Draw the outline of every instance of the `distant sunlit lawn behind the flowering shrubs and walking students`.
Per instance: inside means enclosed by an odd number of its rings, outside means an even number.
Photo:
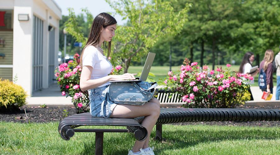
[[[217,68],[218,65],[215,65]],[[226,65],[219,65],[219,67],[222,66],[222,69],[226,68]],[[209,65],[210,69],[212,69],[212,66]],[[232,65],[230,67],[232,70],[238,71],[239,70],[239,65]],[[138,76],[140,76],[140,73],[142,72],[143,66],[130,66],[128,68],[128,73],[139,73]],[[180,70],[180,66],[172,66],[171,70],[174,71],[175,73]],[[155,74],[155,77],[148,77],[152,78],[152,81],[155,82],[163,82],[164,78],[166,78],[167,73],[169,71],[169,66],[152,66],[150,72]],[[254,78],[254,84],[252,86],[259,86],[258,85],[258,77],[259,74],[257,74]],[[163,84],[163,83],[160,83]],[[277,86],[276,84],[276,73],[273,73],[273,86]]]

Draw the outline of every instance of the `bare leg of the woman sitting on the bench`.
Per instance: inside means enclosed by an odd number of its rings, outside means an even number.
[[[147,102],[142,106],[118,104],[112,111],[110,117],[134,118],[134,117],[145,116],[142,122],[142,126],[144,126],[148,131],[147,139],[144,141],[136,140],[132,148],[133,152],[138,152],[140,151],[140,148],[149,147],[148,143],[149,143],[151,131],[156,124],[156,121],[159,117],[159,113],[160,113],[159,102],[156,99],[152,99],[151,101]]]

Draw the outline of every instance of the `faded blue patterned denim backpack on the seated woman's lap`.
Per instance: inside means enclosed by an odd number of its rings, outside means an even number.
[[[156,82],[112,82],[109,99],[117,104],[143,105],[153,98]]]

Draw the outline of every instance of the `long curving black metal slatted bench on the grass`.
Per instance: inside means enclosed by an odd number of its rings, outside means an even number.
[[[69,140],[75,132],[95,132],[95,154],[103,153],[104,132],[128,132],[137,140],[147,138],[147,130],[141,125],[144,117],[97,118],[90,113],[75,114],[64,118],[58,125],[60,136]],[[161,108],[156,122],[156,139],[162,139],[162,124],[179,122],[211,121],[279,121],[279,109],[237,109],[237,108]],[[79,126],[126,126],[127,129],[76,129]]]

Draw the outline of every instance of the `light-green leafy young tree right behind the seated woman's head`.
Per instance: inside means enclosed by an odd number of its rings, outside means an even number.
[[[161,0],[106,2],[116,13],[129,20],[127,25],[118,26],[113,51],[113,57],[120,58],[124,63],[124,73],[127,73],[132,60],[139,61],[160,38],[180,33],[190,7],[187,3],[175,12],[171,2]]]

